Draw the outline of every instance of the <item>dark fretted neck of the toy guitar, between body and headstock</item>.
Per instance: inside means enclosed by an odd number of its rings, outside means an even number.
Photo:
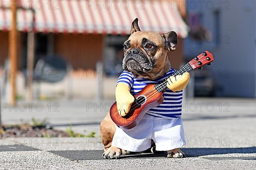
[[[160,83],[156,84],[155,85],[155,89],[158,92],[164,91],[167,88],[167,79],[169,79],[171,76],[182,75],[183,73],[189,72],[189,71],[192,71],[192,70],[193,70],[193,68],[191,67],[191,65],[189,63],[187,63],[182,68],[180,68],[179,70],[175,71],[175,73],[173,73],[172,75],[170,75],[166,79],[163,79]]]

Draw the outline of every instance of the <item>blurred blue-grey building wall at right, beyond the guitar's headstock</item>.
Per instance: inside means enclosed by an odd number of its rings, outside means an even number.
[[[211,51],[215,95],[256,97],[256,1],[187,0],[187,58]]]

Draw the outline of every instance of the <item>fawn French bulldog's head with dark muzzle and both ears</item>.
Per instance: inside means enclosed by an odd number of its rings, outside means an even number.
[[[131,36],[123,44],[124,59],[122,67],[137,78],[157,79],[170,70],[168,51],[174,51],[177,34],[142,32],[136,18],[131,26]]]

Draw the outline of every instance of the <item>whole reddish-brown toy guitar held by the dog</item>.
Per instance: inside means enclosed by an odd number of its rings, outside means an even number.
[[[205,51],[171,76],[181,75],[197,68],[201,69],[206,64],[210,65],[213,60],[212,54],[209,51]],[[130,111],[123,117],[119,115],[115,102],[110,108],[110,116],[113,122],[125,129],[131,129],[136,126],[149,109],[163,102],[163,91],[167,88],[168,78],[158,84],[146,85],[139,93],[135,94],[135,100],[131,105]]]

